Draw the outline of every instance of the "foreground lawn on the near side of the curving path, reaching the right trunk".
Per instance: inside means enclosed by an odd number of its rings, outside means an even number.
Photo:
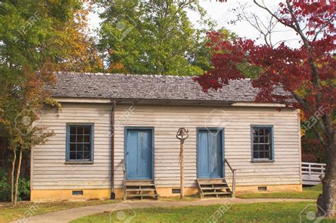
[[[302,222],[313,222],[307,219],[307,213],[313,217],[315,209],[313,202],[142,208],[113,212],[111,215],[104,212],[76,219],[72,223],[130,222],[130,220],[132,222],[300,222],[300,216]],[[322,219],[321,222],[335,221],[336,218]]]

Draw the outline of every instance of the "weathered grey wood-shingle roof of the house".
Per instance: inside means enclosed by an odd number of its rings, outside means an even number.
[[[205,93],[192,76],[55,72],[55,78],[56,84],[47,86],[54,97],[253,102],[259,92],[250,79]],[[287,93],[276,88],[276,94]]]

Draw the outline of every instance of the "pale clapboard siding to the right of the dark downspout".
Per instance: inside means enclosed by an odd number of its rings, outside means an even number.
[[[185,186],[196,186],[196,127],[216,127],[211,118],[225,121],[225,158],[237,169],[237,185],[299,184],[300,149],[296,110],[284,108],[228,108],[177,105],[118,105],[115,118],[115,187],[122,188],[124,127],[155,127],[155,182],[157,187],[179,187],[179,127],[189,129],[185,141]],[[210,123],[209,123],[210,122]],[[251,163],[250,125],[274,125],[274,163]],[[232,173],[225,168],[225,176]],[[229,180],[230,181],[230,180]]]

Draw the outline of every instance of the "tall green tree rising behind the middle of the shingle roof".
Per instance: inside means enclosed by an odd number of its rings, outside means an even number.
[[[205,27],[213,25],[197,1],[113,0],[100,6],[99,46],[109,72],[192,75],[210,66],[204,30],[194,28],[186,13],[196,11]]]

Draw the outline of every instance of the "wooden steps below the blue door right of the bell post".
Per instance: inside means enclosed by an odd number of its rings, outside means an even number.
[[[208,196],[218,198],[221,196],[233,195],[225,178],[197,179],[197,187],[200,198]]]

